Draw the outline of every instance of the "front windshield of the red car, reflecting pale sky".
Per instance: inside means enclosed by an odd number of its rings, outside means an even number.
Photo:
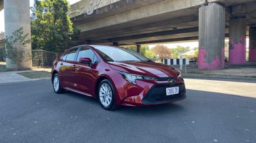
[[[124,47],[94,46],[107,62],[150,61],[148,58]]]

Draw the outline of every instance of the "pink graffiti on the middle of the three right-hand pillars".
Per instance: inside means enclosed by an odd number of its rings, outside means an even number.
[[[230,40],[233,49],[230,49],[228,62],[231,64],[239,64],[246,62],[246,37],[242,36],[239,43],[235,43],[233,39]]]

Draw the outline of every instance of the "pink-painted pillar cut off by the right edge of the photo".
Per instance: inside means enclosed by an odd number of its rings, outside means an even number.
[[[249,29],[249,61],[256,61],[256,28]]]

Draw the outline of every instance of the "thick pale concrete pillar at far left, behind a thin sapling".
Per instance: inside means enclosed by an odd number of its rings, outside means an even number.
[[[30,28],[30,1],[23,0],[4,0],[4,10],[5,10],[5,37],[12,35],[12,33],[23,27],[23,34],[28,33],[27,38],[31,38],[31,28]],[[23,36],[24,36],[23,35]],[[31,44],[26,44],[25,47],[19,46],[19,44],[14,44],[14,47],[18,49],[19,56],[30,56],[30,58],[25,58],[21,62],[21,68],[31,68],[32,67],[32,49]],[[15,63],[12,58],[6,58],[6,68],[16,69],[17,63]]]

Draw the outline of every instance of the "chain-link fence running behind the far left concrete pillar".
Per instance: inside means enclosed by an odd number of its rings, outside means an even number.
[[[34,49],[32,50],[32,65],[33,67],[52,67],[52,62],[58,55],[59,53]],[[0,62],[5,62],[5,48],[3,47],[0,47]]]

